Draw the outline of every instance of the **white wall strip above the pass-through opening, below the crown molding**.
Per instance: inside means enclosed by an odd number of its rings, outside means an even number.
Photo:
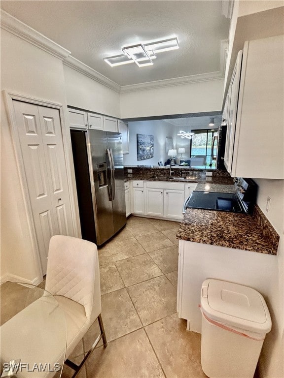
[[[220,111],[223,85],[220,79],[122,93],[121,118]]]

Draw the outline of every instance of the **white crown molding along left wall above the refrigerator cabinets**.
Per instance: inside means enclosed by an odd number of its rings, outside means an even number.
[[[82,73],[85,76],[88,76],[90,79],[93,79],[97,81],[98,83],[105,85],[106,87],[114,90],[117,93],[120,92],[120,88],[121,88],[120,85],[108,79],[106,76],[102,75],[100,72],[96,71],[95,69],[89,67],[85,63],[78,61],[78,59],[72,57],[71,55],[63,61],[63,64]]]

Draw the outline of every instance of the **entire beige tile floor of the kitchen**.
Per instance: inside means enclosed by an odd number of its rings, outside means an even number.
[[[176,309],[178,222],[131,216],[99,249],[102,317],[108,345],[100,343],[79,378],[206,377],[201,337],[186,331]],[[97,322],[72,353],[78,362],[99,333]],[[65,367],[63,378],[71,377]]]

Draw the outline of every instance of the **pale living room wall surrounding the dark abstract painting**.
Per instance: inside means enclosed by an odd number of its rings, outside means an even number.
[[[158,165],[168,160],[166,137],[173,138],[176,145],[176,127],[162,120],[129,122],[129,154],[123,155],[124,165]],[[154,157],[137,160],[137,134],[154,135]]]

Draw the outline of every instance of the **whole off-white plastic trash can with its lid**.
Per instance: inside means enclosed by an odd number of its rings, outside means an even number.
[[[201,289],[201,366],[210,378],[253,378],[271,318],[247,286],[206,280]]]

